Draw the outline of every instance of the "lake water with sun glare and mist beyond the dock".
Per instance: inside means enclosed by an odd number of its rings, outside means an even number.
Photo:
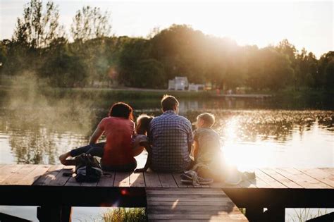
[[[60,164],[60,154],[87,144],[114,101],[131,104],[135,116],[160,114],[159,99],[0,93],[0,164]],[[180,115],[192,122],[199,113],[214,113],[225,159],[241,170],[334,167],[334,109],[327,100],[179,100]]]

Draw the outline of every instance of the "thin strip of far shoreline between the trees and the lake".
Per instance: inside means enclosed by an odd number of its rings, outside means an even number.
[[[135,88],[135,87],[115,87],[115,88],[107,88],[107,87],[68,87],[68,88],[60,88],[60,87],[37,87],[33,88],[30,85],[23,86],[6,86],[0,85],[1,91],[9,91],[12,89],[22,90],[37,90],[39,92],[43,92],[46,94],[50,93],[61,93],[61,94],[71,94],[71,93],[92,93],[97,92],[99,94],[110,94],[116,96],[124,96],[124,97],[147,97],[147,98],[160,98],[163,94],[171,94],[175,97],[180,98],[192,98],[192,99],[223,99],[223,98],[240,98],[240,99],[270,99],[273,97],[276,98],[288,98],[288,99],[299,99],[299,98],[314,98],[314,97],[334,97],[334,89],[333,90],[315,90],[315,89],[302,89],[302,90],[293,90],[293,89],[285,89],[278,90],[276,92],[269,90],[262,91],[252,91],[245,92],[240,94],[217,94],[216,91],[182,91],[182,90],[159,90],[159,89],[144,89],[144,88]]]

